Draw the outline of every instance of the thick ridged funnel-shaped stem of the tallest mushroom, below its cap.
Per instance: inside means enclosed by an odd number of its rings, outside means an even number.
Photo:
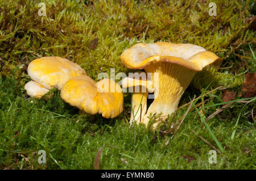
[[[155,99],[148,108],[143,123],[148,124],[150,120],[148,117],[151,114],[162,113],[156,123],[153,124],[153,129],[155,129],[160,121],[167,119],[168,115],[176,111],[180,98],[192,81],[196,71],[168,62],[151,62],[144,69],[147,73],[152,73]]]

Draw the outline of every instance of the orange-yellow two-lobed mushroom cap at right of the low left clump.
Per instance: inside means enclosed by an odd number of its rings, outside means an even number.
[[[111,79],[97,83],[87,75],[74,77],[60,91],[61,98],[71,106],[89,113],[100,113],[105,118],[114,118],[123,111],[121,87]]]

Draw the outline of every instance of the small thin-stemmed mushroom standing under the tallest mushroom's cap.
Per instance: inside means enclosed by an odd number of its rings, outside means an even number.
[[[143,72],[137,74],[143,74]],[[130,123],[142,123],[143,117],[147,112],[148,92],[154,92],[152,82],[150,79],[147,79],[146,74],[144,75],[145,76],[126,77],[122,80],[122,87],[129,88],[129,92],[133,92],[131,98]]]

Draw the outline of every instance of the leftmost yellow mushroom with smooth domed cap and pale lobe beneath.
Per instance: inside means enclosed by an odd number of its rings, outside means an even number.
[[[66,58],[42,57],[30,62],[27,73],[33,80],[24,89],[27,94],[41,98],[50,89],[61,90],[64,83],[73,77],[86,75],[85,70]]]

